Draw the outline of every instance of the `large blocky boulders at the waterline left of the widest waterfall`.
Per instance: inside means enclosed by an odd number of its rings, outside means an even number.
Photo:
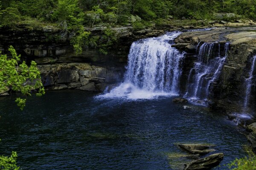
[[[103,67],[88,63],[38,65],[44,86],[52,90],[78,88],[84,91],[104,91],[105,87],[123,77],[123,67]]]

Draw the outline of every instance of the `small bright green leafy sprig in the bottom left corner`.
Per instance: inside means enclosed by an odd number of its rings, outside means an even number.
[[[1,170],[19,170],[20,167],[16,165],[17,153],[12,152],[10,157],[0,156],[0,169]]]

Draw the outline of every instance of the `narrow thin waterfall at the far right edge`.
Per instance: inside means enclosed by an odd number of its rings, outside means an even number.
[[[244,99],[244,112],[246,112],[248,104],[249,104],[249,99],[250,99],[250,93],[251,93],[251,88],[252,88],[252,79],[253,79],[253,72],[255,70],[255,61],[256,61],[256,56],[253,57],[253,62],[250,68],[250,73],[249,73],[249,78],[245,79],[246,83],[246,91],[245,91],[245,99]]]

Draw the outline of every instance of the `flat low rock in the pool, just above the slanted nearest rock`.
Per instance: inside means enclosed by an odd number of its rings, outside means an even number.
[[[214,149],[209,149],[209,145],[205,144],[178,144],[178,146],[193,154],[204,155],[215,151]]]

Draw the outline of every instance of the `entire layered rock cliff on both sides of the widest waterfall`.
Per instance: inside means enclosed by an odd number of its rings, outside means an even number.
[[[189,27],[190,28],[190,27]],[[105,26],[85,28],[92,36],[101,35]],[[41,30],[9,31],[1,30],[0,50],[7,52],[13,45],[27,62],[35,60],[41,69],[42,80],[46,88],[60,90],[79,88],[87,91],[102,91],[106,86],[122,80],[131,43],[146,37],[156,37],[165,31],[177,28],[147,28],[134,31],[131,26],[111,28],[118,36],[118,43],[108,55],[98,49],[84,49],[81,55],[74,53],[70,39],[74,32],[60,38],[61,30],[45,27]],[[179,28],[182,29],[182,28]],[[248,78],[251,58],[256,54],[255,27],[214,28],[209,31],[183,32],[173,45],[180,51],[186,51],[183,60],[183,74],[180,89],[185,94],[189,71],[197,60],[200,43],[218,42],[224,53],[224,45],[230,43],[227,59],[218,80],[211,83],[209,105],[224,111],[239,112],[243,107],[245,86]],[[255,82],[255,78],[253,78]],[[252,85],[250,109],[256,108],[255,84]]]

